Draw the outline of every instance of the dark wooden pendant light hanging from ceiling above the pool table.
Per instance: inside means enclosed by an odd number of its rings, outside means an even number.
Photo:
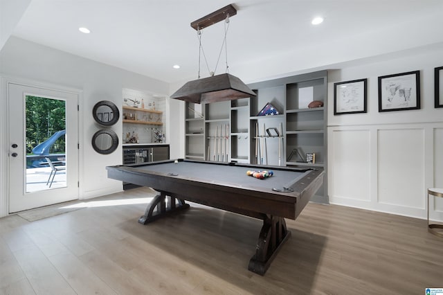
[[[255,97],[254,91],[242,82],[239,78],[228,73],[228,48],[226,47],[226,35],[229,27],[229,17],[237,14],[237,10],[232,4],[225,6],[215,12],[197,19],[191,23],[192,28],[197,30],[197,37],[199,38],[199,79],[187,82],[179,90],[177,90],[171,98],[185,100],[188,102],[202,103],[202,102],[219,102],[224,100],[235,100],[238,98]],[[218,61],[222,50],[220,51],[217,64],[214,71],[210,71],[210,77],[200,79],[200,56],[201,46],[201,30],[219,21],[225,20],[224,40],[221,44],[221,49],[225,47],[226,51],[226,73],[214,75],[217,70]],[[205,58],[206,60],[206,58]],[[208,66],[206,62],[206,66]],[[209,66],[208,66],[209,69]]]

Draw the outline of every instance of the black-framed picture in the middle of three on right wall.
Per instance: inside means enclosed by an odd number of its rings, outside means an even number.
[[[420,109],[420,71],[379,77],[379,111]]]

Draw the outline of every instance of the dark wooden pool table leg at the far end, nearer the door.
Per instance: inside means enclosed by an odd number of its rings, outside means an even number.
[[[166,202],[166,198],[168,198],[170,202]],[[145,215],[138,219],[138,223],[147,224],[154,220],[158,220],[165,215],[170,215],[171,213],[188,208],[189,204],[186,204],[184,199],[180,199],[171,193],[161,192],[156,195],[149,204],[147,204]]]

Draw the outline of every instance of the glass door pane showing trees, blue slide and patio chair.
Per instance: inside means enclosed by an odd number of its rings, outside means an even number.
[[[66,186],[65,130],[64,100],[26,96],[27,193]]]

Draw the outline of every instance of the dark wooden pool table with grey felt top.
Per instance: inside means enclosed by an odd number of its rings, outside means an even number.
[[[272,170],[257,179],[248,170]],[[248,269],[264,275],[291,236],[284,218],[295,220],[323,184],[323,170],[211,161],[158,161],[108,166],[108,177],[159,192],[138,222],[147,224],[189,208],[187,201],[263,220]]]

